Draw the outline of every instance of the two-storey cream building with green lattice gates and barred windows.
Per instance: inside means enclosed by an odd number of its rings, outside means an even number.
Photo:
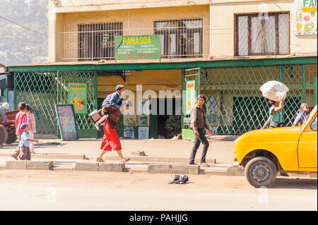
[[[119,122],[122,137],[167,138],[165,121],[182,114],[182,136],[192,138],[182,92],[188,84],[206,95],[213,133],[241,134],[266,121],[269,105],[259,92],[266,81],[290,88],[289,124],[301,102],[317,104],[316,17],[312,0],[49,1],[49,62],[8,71],[16,103],[33,102],[44,134],[57,133],[54,104],[69,103],[69,83],[87,84],[88,112],[77,115],[81,137],[98,135],[88,114],[118,84],[134,102],[134,114]],[[116,37],[139,35],[160,37],[160,57],[116,58]],[[145,105],[155,113],[140,110]]]

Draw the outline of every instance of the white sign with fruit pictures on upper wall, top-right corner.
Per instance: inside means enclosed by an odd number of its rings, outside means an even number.
[[[317,35],[317,0],[295,0],[296,35]]]

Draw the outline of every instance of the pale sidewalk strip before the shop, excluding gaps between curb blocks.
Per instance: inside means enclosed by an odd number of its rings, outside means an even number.
[[[237,136],[221,136],[215,135],[208,138],[210,147],[206,154],[206,159],[216,159],[217,163],[231,164],[234,157],[234,140]],[[100,152],[101,139],[87,138],[78,141],[63,141],[56,140],[41,140],[45,144],[35,144],[36,154],[60,154],[64,155],[85,155],[90,159],[96,159]],[[190,140],[128,140],[122,139],[122,153],[124,157],[136,156],[133,152],[143,151],[147,157],[165,157],[165,158],[182,158],[189,159],[192,151],[193,142]],[[11,154],[18,144],[3,145],[0,147],[1,154]],[[196,159],[201,157],[202,146],[199,147],[196,153]],[[35,155],[34,154],[34,157]],[[107,157],[116,157],[117,153],[107,152]]]

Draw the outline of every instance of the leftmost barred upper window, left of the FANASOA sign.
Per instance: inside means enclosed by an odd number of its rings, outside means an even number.
[[[78,25],[78,61],[114,59],[114,36],[123,35],[122,23]]]

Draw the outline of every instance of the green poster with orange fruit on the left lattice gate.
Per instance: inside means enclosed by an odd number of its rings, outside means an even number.
[[[69,83],[69,104],[76,114],[87,114],[87,84]]]

